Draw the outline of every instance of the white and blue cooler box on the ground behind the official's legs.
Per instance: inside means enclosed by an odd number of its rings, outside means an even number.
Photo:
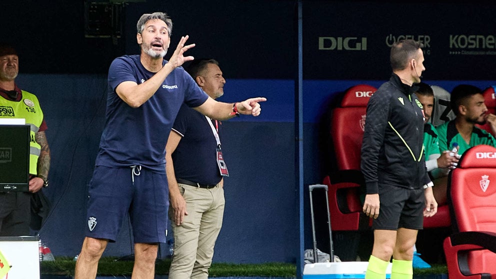
[[[387,265],[386,278],[391,277],[391,264]],[[361,279],[365,278],[368,261],[317,262],[305,264],[303,279]]]

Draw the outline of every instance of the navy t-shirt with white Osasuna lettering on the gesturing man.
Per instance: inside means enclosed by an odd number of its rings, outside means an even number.
[[[106,121],[95,165],[141,165],[165,173],[165,144],[179,107],[183,102],[199,106],[208,95],[182,67],[172,70],[158,90],[137,108],[115,92],[123,81],[140,84],[154,74],[143,67],[139,55],[117,57],[110,64]]]

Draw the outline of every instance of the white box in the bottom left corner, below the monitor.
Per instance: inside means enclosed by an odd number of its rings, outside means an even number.
[[[38,240],[37,236],[0,237],[0,252],[11,265],[3,278],[39,279]]]

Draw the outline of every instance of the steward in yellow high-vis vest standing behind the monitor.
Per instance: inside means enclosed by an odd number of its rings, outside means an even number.
[[[19,71],[19,57],[15,49],[0,43],[0,118],[23,118],[30,126],[29,191],[8,191],[0,188],[0,236],[29,235],[31,198],[39,200],[39,191],[48,185],[50,148],[44,130],[46,123],[38,98],[19,89],[15,77]],[[1,177],[0,177],[1,180]],[[1,182],[1,181],[0,181]],[[34,204],[34,202],[33,202]],[[34,211],[40,208],[34,208]],[[48,208],[43,208],[48,213]],[[34,212],[35,214],[40,214]],[[41,221],[34,230],[39,230]]]

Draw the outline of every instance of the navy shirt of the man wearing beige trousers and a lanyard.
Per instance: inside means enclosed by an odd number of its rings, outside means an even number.
[[[181,105],[172,126],[182,137],[172,153],[176,178],[200,184],[216,184],[222,178],[217,165],[217,141],[207,121],[211,120],[187,105]],[[217,123],[220,133],[222,125],[220,121]],[[214,122],[212,124],[215,126]]]

